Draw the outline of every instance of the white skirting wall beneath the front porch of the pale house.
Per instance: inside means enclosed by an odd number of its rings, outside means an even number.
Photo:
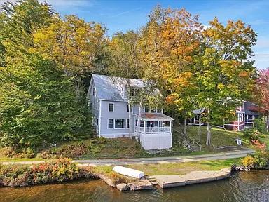
[[[172,147],[172,134],[141,134],[140,142],[145,150],[149,149],[170,149]]]

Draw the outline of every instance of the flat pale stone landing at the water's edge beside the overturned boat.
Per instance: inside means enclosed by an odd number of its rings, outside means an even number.
[[[120,191],[153,189],[153,185],[158,184],[162,188],[180,187],[188,184],[199,184],[222,180],[230,177],[231,168],[223,168],[216,171],[192,171],[186,175],[154,175],[145,180],[139,180],[132,184],[118,184]],[[131,186],[130,186],[131,185]],[[135,185],[135,186],[134,186]]]

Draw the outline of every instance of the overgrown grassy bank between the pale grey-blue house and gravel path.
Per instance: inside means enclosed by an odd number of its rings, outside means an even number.
[[[124,138],[95,138],[79,142],[61,142],[57,147],[47,147],[34,152],[31,149],[15,152],[10,148],[0,149],[0,162],[3,161],[42,161],[58,159],[60,156],[72,159],[121,159],[121,158],[148,158],[153,156],[181,156],[190,154],[186,149],[176,145],[170,150],[156,153],[144,151],[139,142]],[[31,158],[30,158],[31,157]]]

